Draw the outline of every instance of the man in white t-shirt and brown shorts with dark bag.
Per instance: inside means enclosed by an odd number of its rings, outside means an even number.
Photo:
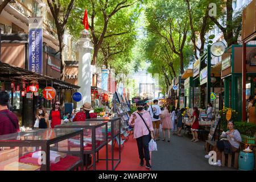
[[[158,105],[158,100],[154,100],[153,103],[154,105],[151,105],[150,107],[148,107],[147,111],[149,111],[151,115],[156,140],[160,140],[159,126],[160,126],[160,117],[162,117],[162,114],[161,114],[162,112]]]

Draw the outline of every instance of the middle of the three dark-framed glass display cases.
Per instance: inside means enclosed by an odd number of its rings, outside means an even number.
[[[108,131],[108,121],[86,121],[71,122],[63,125],[57,125],[55,128],[80,128],[83,129],[84,147],[83,152],[85,155],[93,155],[93,163],[90,166],[86,166],[89,169],[93,166],[93,170],[96,170],[96,154],[102,147],[106,147],[106,170],[108,170],[108,135],[111,135]],[[72,142],[72,141],[71,141]],[[73,143],[73,146],[76,144]],[[87,164],[87,158],[84,159]]]

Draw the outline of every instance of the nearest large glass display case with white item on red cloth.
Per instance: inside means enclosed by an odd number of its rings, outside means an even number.
[[[0,171],[68,171],[84,167],[81,129],[39,129],[0,136]],[[70,141],[76,141],[71,145]]]

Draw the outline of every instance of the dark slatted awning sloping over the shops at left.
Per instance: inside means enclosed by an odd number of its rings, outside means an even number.
[[[79,89],[80,86],[69,84],[68,82],[57,80],[56,78],[41,75],[27,69],[0,62],[0,80],[2,81],[32,81],[36,80],[40,84],[46,82],[57,89]]]

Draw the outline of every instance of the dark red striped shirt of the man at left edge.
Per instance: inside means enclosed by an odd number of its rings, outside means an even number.
[[[11,120],[10,120],[11,119]],[[14,127],[15,125],[15,127]],[[19,131],[19,121],[14,113],[8,109],[0,111],[0,135],[16,133]]]

